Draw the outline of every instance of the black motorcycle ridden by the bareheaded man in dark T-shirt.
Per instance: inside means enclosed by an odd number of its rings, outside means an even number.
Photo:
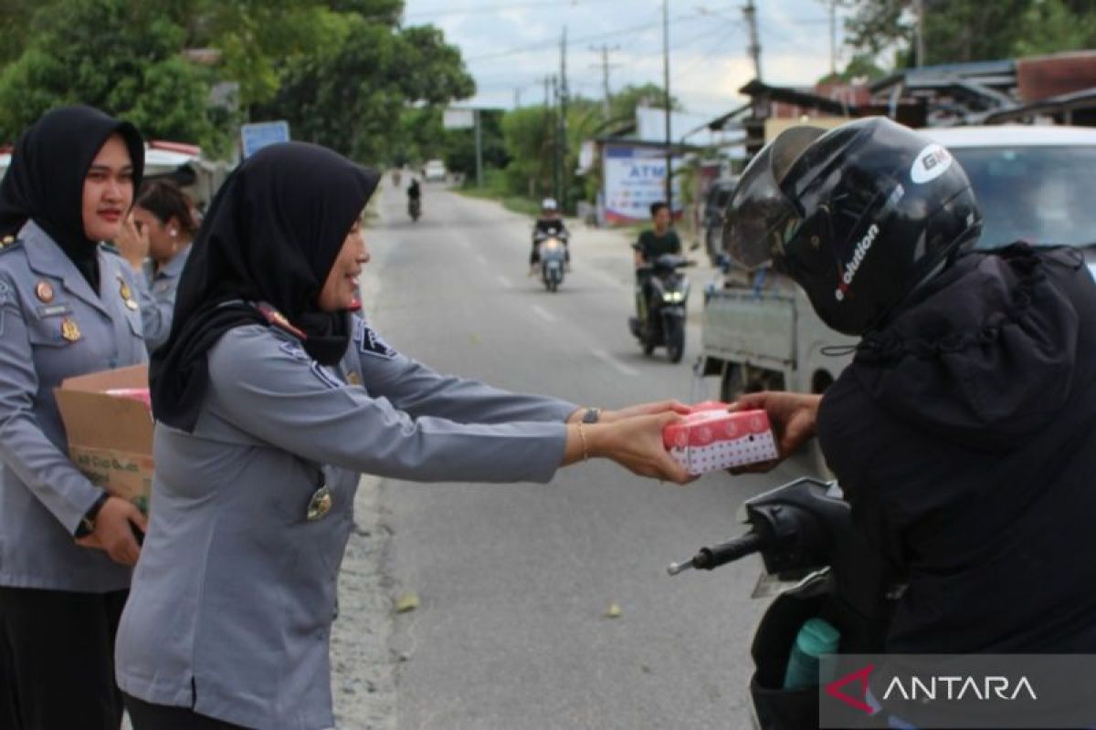
[[[643,348],[643,355],[651,355],[654,348],[663,346],[671,362],[681,362],[685,355],[689,282],[680,269],[693,265],[694,262],[676,254],[662,254],[653,263],[636,269],[637,316],[628,320],[628,326]],[[650,299],[646,293],[648,289]]]

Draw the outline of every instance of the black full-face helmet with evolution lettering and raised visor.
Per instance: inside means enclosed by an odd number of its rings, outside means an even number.
[[[830,327],[878,327],[982,228],[948,151],[884,117],[825,131],[791,127],[750,163],[727,208],[723,245],[772,265]]]

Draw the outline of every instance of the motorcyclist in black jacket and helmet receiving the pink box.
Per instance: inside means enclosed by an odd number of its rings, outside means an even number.
[[[724,242],[861,336],[823,396],[757,393],[781,455],[818,434],[907,588],[887,650],[1096,651],[1096,285],[1072,250],[973,251],[959,163],[883,118],[794,127]]]

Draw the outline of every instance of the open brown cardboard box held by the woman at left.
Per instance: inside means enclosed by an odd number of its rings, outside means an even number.
[[[92,484],[145,512],[152,486],[152,414],[135,395],[147,390],[144,364],[69,378],[54,390],[72,463]]]

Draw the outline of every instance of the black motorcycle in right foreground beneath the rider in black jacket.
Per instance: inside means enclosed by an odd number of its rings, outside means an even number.
[[[819,727],[818,686],[786,688],[792,647],[808,619],[821,617],[840,633],[838,653],[878,653],[901,592],[893,573],[853,524],[836,483],[801,478],[743,506],[750,531],[687,560],[676,576],[712,570],[761,553],[764,570],[797,581],[769,604],[751,646],[753,722],[762,730]]]

